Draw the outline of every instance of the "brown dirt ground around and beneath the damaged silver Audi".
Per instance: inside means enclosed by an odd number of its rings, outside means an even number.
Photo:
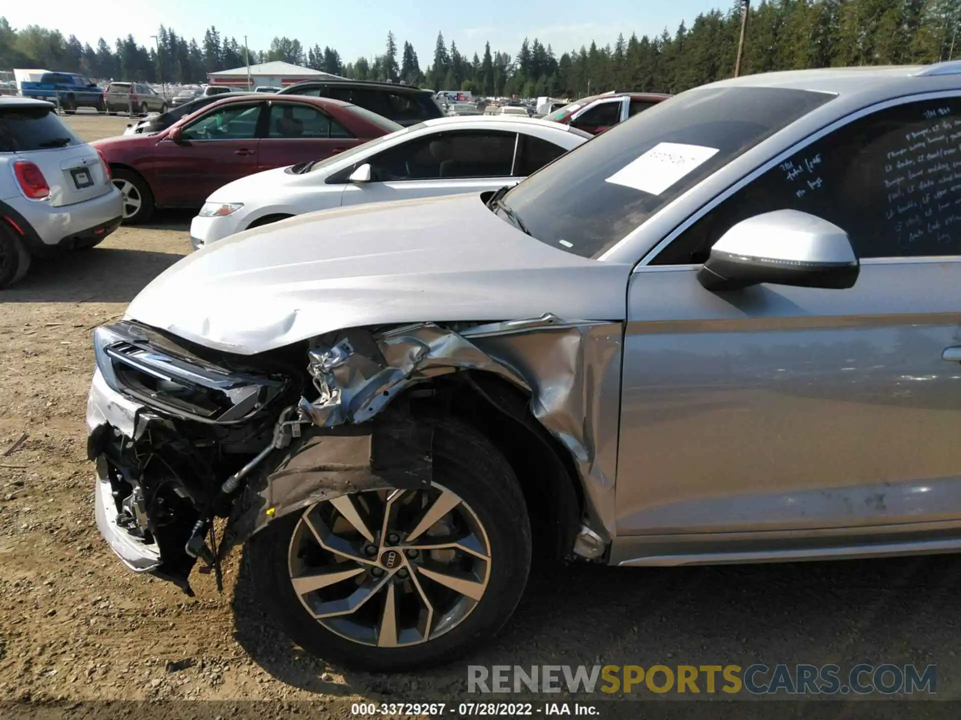
[[[85,139],[127,124],[69,122]],[[476,700],[468,664],[862,661],[937,664],[938,697],[961,699],[955,556],[573,567],[535,579],[505,631],[471,659],[393,677],[305,656],[259,611],[239,551],[223,594],[196,572],[193,599],[129,572],[93,517],[90,334],[189,252],[189,216],[121,228],[94,250],[37,263],[0,294],[0,701],[312,700],[322,716],[346,716],[338,699]]]

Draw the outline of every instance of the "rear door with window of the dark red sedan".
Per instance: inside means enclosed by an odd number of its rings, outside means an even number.
[[[330,115],[305,103],[273,101],[260,140],[258,169],[323,160],[360,143]]]

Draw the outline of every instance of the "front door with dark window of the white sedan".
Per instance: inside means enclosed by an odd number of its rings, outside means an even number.
[[[439,132],[417,137],[370,158],[372,181],[347,185],[342,203],[496,190],[520,180],[511,176],[516,145],[515,132]]]

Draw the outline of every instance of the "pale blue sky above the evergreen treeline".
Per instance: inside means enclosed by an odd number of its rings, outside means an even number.
[[[56,28],[93,46],[98,37],[112,45],[128,33],[143,44],[152,43],[150,36],[160,23],[200,42],[204,31],[215,25],[221,35],[238,42],[248,36],[253,49],[265,50],[274,36],[288,36],[305,47],[331,45],[345,62],[352,62],[361,55],[381,54],[392,30],[398,46],[411,42],[426,67],[438,31],[448,48],[454,40],[468,56],[482,54],[485,40],[492,50],[514,54],[525,36],[550,43],[559,56],[592,39],[600,46],[613,45],[618,33],[654,35],[665,26],[674,33],[682,19],[690,24],[699,12],[727,10],[733,0],[14,0],[3,5],[0,15],[14,28]]]

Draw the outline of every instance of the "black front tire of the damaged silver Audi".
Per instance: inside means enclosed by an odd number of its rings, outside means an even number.
[[[531,538],[513,470],[494,444],[464,423],[437,421],[434,442],[435,482],[463,500],[489,541],[490,575],[483,595],[458,625],[419,644],[377,647],[337,635],[315,620],[294,592],[287,553],[302,513],[291,513],[249,540],[247,552],[261,605],[309,653],[366,672],[429,667],[478,648],[517,607],[530,572]]]

